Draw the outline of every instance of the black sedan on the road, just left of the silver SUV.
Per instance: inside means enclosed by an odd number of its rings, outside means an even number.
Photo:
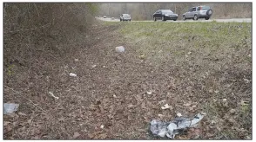
[[[172,12],[172,10],[157,10],[153,14],[154,21],[161,19],[162,21],[173,20],[176,21],[178,19],[178,14]]]

